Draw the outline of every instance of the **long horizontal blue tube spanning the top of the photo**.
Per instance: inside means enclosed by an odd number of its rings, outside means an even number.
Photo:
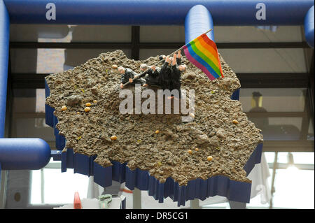
[[[177,24],[188,10],[205,6],[218,26],[302,25],[314,0],[3,0],[12,23],[34,24]],[[48,3],[55,3],[56,20],[47,20]],[[264,3],[265,20],[257,20]]]

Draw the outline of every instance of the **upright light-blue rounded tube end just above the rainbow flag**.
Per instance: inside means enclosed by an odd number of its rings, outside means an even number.
[[[201,34],[212,29],[207,35],[214,41],[214,22],[206,7],[202,5],[193,6],[185,18],[185,43],[193,41]]]

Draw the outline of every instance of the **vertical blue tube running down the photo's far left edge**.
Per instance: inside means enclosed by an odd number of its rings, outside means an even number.
[[[10,20],[6,6],[0,1],[0,138],[4,137],[6,120],[6,85],[8,82],[8,45]]]

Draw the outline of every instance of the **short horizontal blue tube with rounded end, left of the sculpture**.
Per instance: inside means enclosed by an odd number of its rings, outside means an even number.
[[[50,147],[41,138],[0,138],[3,170],[37,170],[50,160]]]

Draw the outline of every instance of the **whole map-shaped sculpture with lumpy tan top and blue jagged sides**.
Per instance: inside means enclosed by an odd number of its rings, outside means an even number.
[[[246,175],[260,162],[262,135],[242,112],[241,103],[230,99],[240,84],[220,59],[224,78],[214,81],[182,59],[188,69],[181,89],[195,90],[192,122],[182,122],[182,114],[120,113],[120,74],[112,66],[140,73],[140,64],[155,64],[158,56],[134,61],[116,50],[48,75],[46,122],[66,139],[62,171],[74,168],[94,175],[103,187],[111,180],[126,182],[129,189],[148,190],[160,202],[169,196],[179,206],[215,195],[249,202],[251,181]],[[134,92],[134,86],[126,89]],[[158,90],[141,87],[145,89]]]

